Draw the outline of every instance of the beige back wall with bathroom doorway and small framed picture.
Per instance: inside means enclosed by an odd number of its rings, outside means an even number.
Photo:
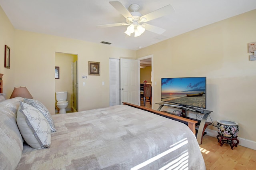
[[[109,106],[109,57],[135,59],[135,51],[68,38],[16,30],[16,85],[55,113],[55,52],[78,55],[78,111]],[[88,75],[88,61],[100,62],[100,76]],[[105,85],[102,85],[102,81]],[[83,82],[86,83],[83,86]]]

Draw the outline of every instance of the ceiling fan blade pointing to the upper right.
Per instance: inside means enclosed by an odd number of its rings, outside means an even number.
[[[146,14],[146,15],[140,17],[140,19],[146,18],[146,20],[142,19],[142,22],[148,22],[150,20],[154,20],[156,18],[160,18],[162,16],[171,14],[172,12],[175,12],[172,5],[167,5],[167,6],[164,6],[163,8],[160,8],[158,10],[155,10],[153,12],[150,12],[149,14]]]

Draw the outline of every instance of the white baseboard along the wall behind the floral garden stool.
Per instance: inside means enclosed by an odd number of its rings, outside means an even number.
[[[211,129],[206,129],[205,132],[207,132],[206,135],[212,136],[212,137],[215,137],[215,138],[218,135],[217,131],[211,130]],[[238,145],[241,145],[241,146],[244,146],[246,148],[250,148],[250,149],[256,150],[256,142],[255,141],[248,140],[248,139],[245,139],[245,138],[240,138],[240,137],[238,137],[238,140],[239,140],[239,144]],[[204,138],[203,138],[202,142],[204,142]],[[216,142],[218,142],[217,138],[216,138]]]

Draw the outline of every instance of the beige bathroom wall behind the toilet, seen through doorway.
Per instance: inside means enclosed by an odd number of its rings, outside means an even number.
[[[77,55],[68,53],[56,53],[55,55],[55,66],[58,66],[60,71],[59,79],[55,79],[55,91],[67,91],[68,106],[67,111],[71,110],[72,107],[72,63],[77,61]]]

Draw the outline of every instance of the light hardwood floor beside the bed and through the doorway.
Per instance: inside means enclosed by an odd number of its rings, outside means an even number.
[[[140,102],[144,106],[143,101]],[[146,102],[146,108],[152,105]],[[204,135],[199,145],[207,170],[254,170],[256,150],[238,145],[232,150],[229,144],[220,146],[216,137]]]

